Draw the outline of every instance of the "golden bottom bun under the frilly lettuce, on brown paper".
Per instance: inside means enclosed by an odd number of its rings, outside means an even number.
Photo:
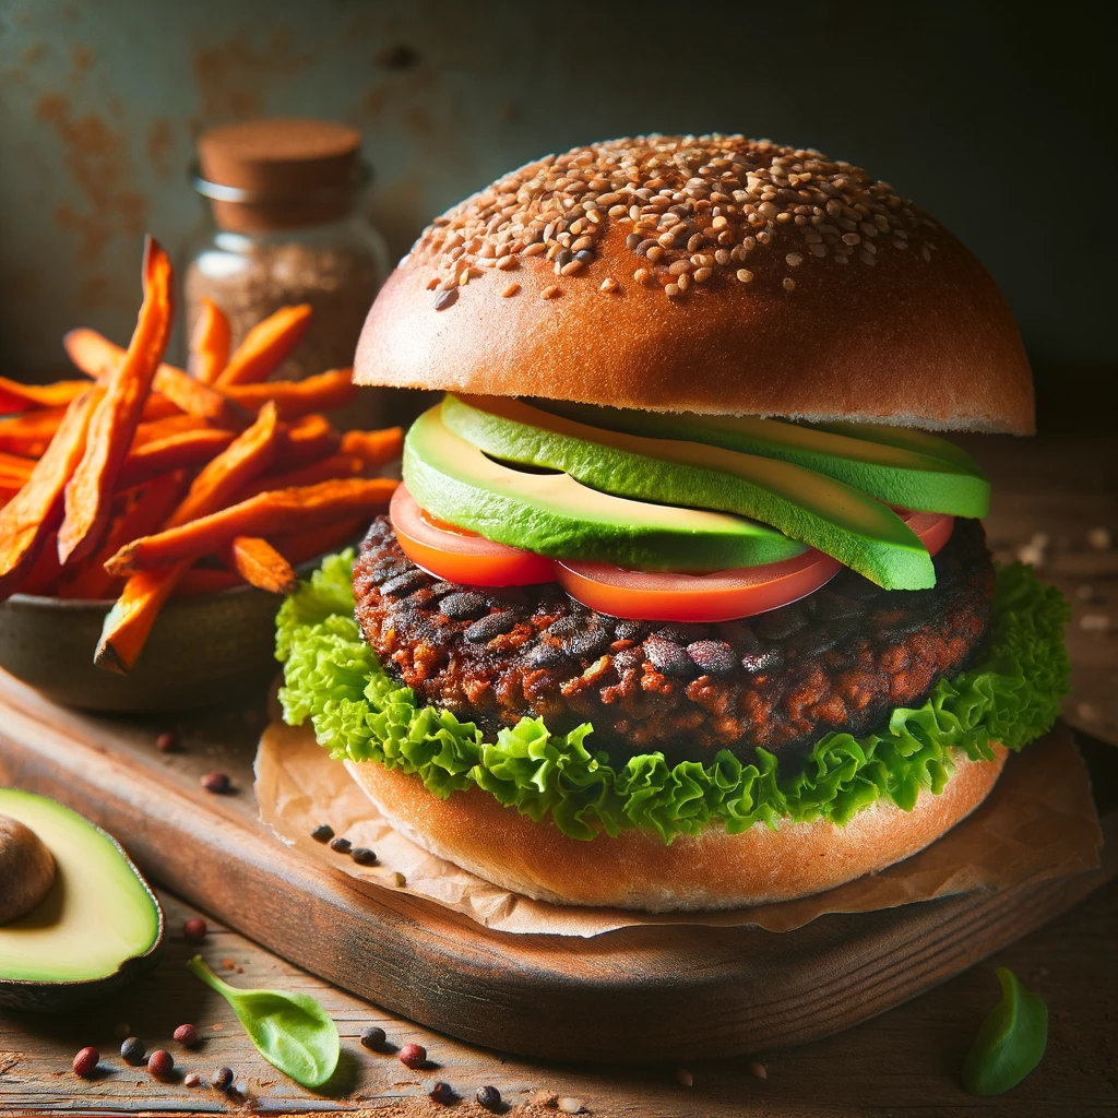
[[[986,798],[1005,765],[1006,750],[995,745],[994,754],[960,757],[942,793],[921,792],[911,812],[878,800],[844,826],[781,819],[776,830],[757,823],[731,835],[716,825],[670,845],[645,830],[584,842],[477,787],[439,799],[415,775],[345,766],[397,831],[486,881],[559,904],[671,912],[792,900],[909,858]]]

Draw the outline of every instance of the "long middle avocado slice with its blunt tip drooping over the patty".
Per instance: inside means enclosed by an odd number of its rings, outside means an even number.
[[[887,589],[936,584],[927,548],[897,513],[803,466],[589,427],[508,397],[448,395],[442,409],[447,427],[496,458],[562,470],[627,498],[756,518]]]

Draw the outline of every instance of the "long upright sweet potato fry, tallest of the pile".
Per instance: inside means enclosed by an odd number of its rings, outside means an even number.
[[[80,562],[108,528],[113,487],[171,335],[171,260],[149,237],[143,262],[144,300],[124,361],[110,375],[89,420],[85,454],[66,486],[58,529],[58,560]]]

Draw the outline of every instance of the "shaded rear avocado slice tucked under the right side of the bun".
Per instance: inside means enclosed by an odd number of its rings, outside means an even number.
[[[546,411],[608,430],[688,439],[792,462],[885,504],[917,512],[975,519],[989,512],[989,481],[978,464],[957,446],[925,432],[884,424],[800,426],[761,416],[667,414],[556,400],[539,404]]]

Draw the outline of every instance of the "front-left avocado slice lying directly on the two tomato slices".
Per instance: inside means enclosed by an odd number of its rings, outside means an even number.
[[[404,483],[449,524],[557,559],[643,570],[722,570],[777,562],[804,546],[765,524],[610,496],[566,473],[528,473],[452,432],[438,405],[404,440]]]

